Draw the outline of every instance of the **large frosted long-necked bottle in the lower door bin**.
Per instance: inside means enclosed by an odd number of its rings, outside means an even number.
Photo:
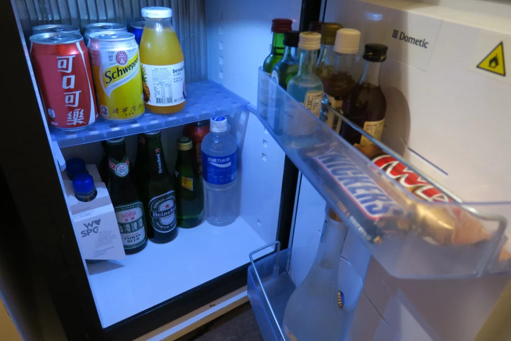
[[[351,313],[338,301],[339,295],[342,297],[338,276],[346,231],[340,218],[329,209],[314,263],[286,305],[286,340],[342,341],[347,336]]]

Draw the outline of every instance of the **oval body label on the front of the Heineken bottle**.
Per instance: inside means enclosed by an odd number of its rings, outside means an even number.
[[[151,225],[159,232],[171,232],[177,226],[176,193],[169,191],[149,200]]]

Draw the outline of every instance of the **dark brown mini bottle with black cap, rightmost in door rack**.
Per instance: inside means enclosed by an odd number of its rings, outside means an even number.
[[[346,109],[343,110],[346,118],[377,140],[381,140],[387,110],[385,95],[380,87],[381,65],[386,57],[387,47],[385,45],[376,43],[365,45],[362,57],[366,61],[364,73],[353,88],[345,104]],[[346,123],[341,124],[340,134],[351,144],[359,144],[361,147],[374,145]]]

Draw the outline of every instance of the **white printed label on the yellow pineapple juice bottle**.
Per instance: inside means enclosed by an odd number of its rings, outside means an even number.
[[[142,64],[144,101],[154,106],[171,106],[187,99],[184,62],[173,65]]]

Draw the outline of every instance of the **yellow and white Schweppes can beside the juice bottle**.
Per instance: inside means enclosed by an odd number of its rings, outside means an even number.
[[[135,35],[94,32],[89,36],[88,49],[101,116],[112,121],[141,116],[145,108]]]

